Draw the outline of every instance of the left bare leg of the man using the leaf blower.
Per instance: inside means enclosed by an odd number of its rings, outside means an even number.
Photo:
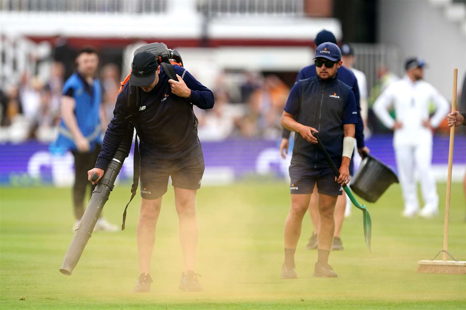
[[[139,256],[139,269],[141,273],[150,273],[151,256],[155,242],[155,226],[162,197],[157,199],[141,198],[141,213],[137,222],[137,254]]]

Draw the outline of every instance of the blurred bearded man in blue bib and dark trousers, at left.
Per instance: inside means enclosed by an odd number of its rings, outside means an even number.
[[[102,90],[95,77],[99,58],[91,47],[79,51],[76,57],[77,70],[63,85],[60,100],[60,125],[58,137],[50,145],[52,153],[63,154],[70,151],[75,158],[75,184],[73,185],[73,203],[75,224],[79,224],[84,214],[84,196],[87,186],[87,171],[92,169],[100,152]],[[95,185],[90,185],[90,195]],[[95,231],[117,231],[102,217],[97,220]]]

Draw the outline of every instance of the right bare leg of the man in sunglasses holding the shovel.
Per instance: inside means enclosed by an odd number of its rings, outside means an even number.
[[[330,251],[332,246],[333,234],[335,232],[335,204],[337,196],[328,196],[319,194],[319,250]]]

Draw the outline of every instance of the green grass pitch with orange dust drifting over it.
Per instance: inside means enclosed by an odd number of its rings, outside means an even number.
[[[182,271],[173,191],[163,198],[152,257],[152,291],[132,293],[139,275],[136,198],[126,230],[98,232],[72,276],[58,270],[73,237],[71,190],[51,187],[0,191],[1,309],[466,309],[465,275],[416,273],[417,261],[442,248],[445,184],[440,216],[401,218],[402,198],[392,185],[372,216],[372,253],[364,244],[362,213],[353,207],[342,232],[344,251],[332,252],[336,279],[314,278],[316,251],[305,250],[308,215],[296,251],[298,279],[281,279],[283,224],[289,208],[285,183],[246,182],[198,191],[196,272],[204,292],[178,290]],[[120,224],[129,186],[117,186],[103,214]],[[363,202],[362,199],[360,199]],[[452,186],[449,251],[466,257],[462,185]],[[20,300],[24,297],[24,300]]]

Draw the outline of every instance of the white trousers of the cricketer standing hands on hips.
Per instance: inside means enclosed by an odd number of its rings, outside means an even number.
[[[432,172],[432,144],[396,146],[395,156],[403,191],[404,211],[411,213],[419,210],[416,172],[421,182],[425,210],[438,210],[439,195]]]

